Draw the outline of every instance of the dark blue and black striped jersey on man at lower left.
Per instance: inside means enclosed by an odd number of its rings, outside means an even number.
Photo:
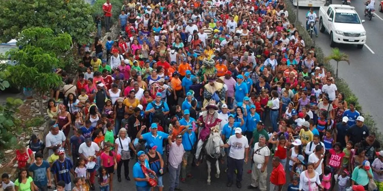
[[[61,162],[60,159],[57,159],[52,164],[51,172],[57,175],[57,181],[64,181],[65,184],[70,183],[70,170],[73,168],[72,161],[65,157],[64,162]]]

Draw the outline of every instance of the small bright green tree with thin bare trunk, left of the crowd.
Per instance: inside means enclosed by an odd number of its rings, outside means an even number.
[[[22,48],[6,53],[18,62],[8,67],[8,79],[18,87],[31,88],[43,115],[43,95],[62,85],[61,77],[52,70],[65,65],[62,55],[70,50],[72,39],[67,33],[55,35],[52,29],[39,27],[23,30],[16,39]]]

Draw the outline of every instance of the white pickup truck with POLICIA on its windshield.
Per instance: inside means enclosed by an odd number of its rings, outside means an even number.
[[[329,32],[331,47],[339,44],[356,44],[362,49],[366,43],[366,30],[355,8],[350,5],[321,6],[319,8],[319,31]]]

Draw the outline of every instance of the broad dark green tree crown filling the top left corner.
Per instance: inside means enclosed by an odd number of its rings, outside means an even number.
[[[0,7],[0,42],[15,39],[24,29],[45,27],[86,44],[95,31],[92,7],[83,0],[1,0]]]

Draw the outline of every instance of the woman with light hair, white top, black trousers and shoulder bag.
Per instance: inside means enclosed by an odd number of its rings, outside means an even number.
[[[118,138],[115,140],[115,148],[117,151],[117,178],[121,182],[121,167],[124,165],[125,179],[130,181],[129,178],[129,161],[131,159],[129,147],[136,152],[131,139],[128,137],[128,132],[125,128],[118,131]]]

